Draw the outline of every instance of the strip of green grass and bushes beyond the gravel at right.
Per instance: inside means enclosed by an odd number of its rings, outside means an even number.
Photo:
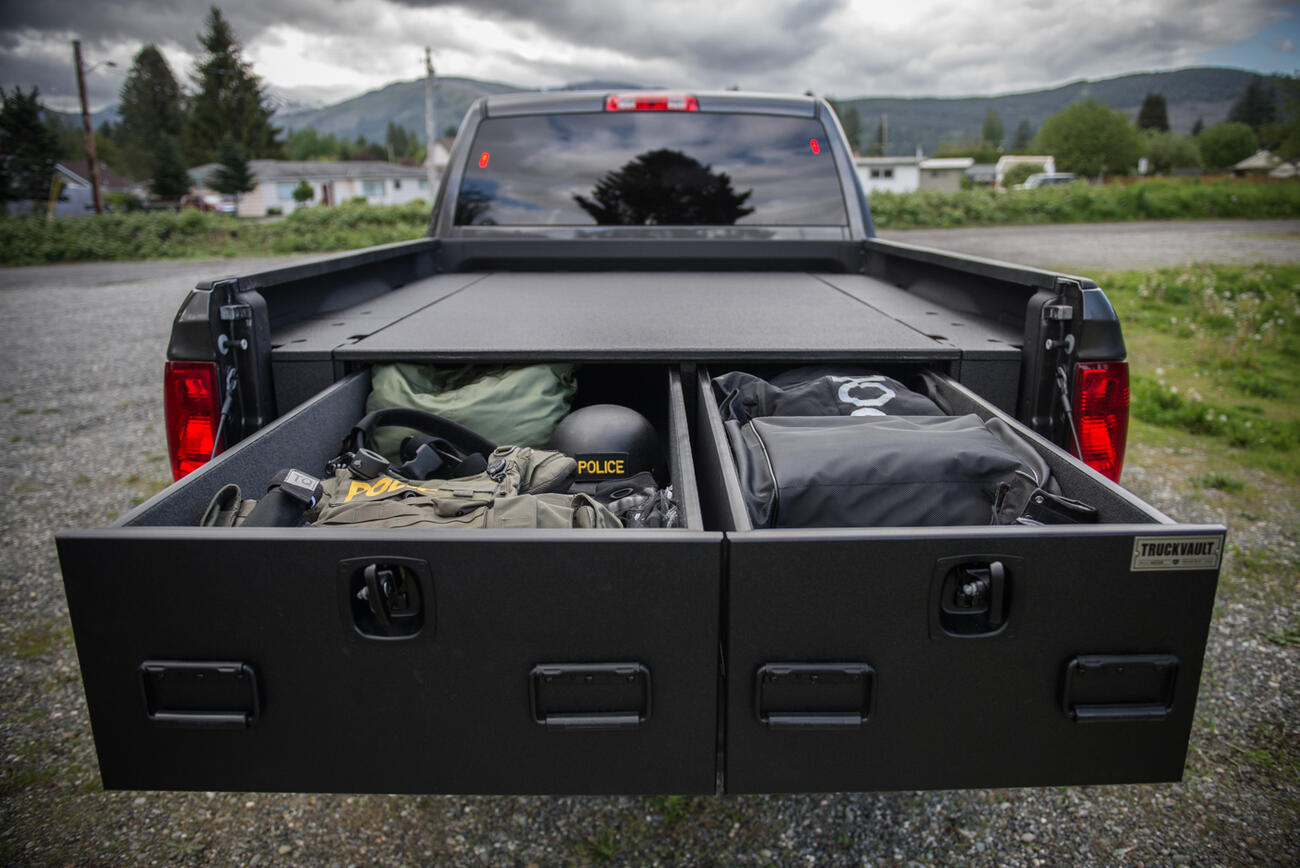
[[[876,192],[870,198],[876,229],[952,229],[1126,220],[1300,217],[1300,183],[1242,181],[1141,181],[1084,183],[1040,190]]]

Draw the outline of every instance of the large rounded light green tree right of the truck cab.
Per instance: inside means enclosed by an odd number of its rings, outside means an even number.
[[[1096,100],[1072,103],[1043,122],[1034,149],[1056,157],[1061,172],[1127,174],[1138,165],[1138,134],[1128,117]]]

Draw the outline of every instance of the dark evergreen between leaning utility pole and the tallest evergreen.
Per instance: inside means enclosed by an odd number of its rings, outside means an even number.
[[[155,177],[159,143],[178,139],[185,122],[181,86],[156,47],[136,52],[120,99],[122,120],[113,138],[122,168],[133,178]]]

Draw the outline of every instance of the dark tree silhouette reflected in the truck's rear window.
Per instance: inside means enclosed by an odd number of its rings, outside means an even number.
[[[660,148],[606,173],[590,199],[573,201],[601,226],[731,226],[754,213],[744,207],[751,195],[736,192],[725,172]]]

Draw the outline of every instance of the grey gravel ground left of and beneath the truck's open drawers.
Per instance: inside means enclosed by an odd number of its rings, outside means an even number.
[[[1193,249],[1206,243],[1199,225],[1179,227]],[[1087,243],[1118,246],[1131,229]],[[1226,521],[1234,544],[1180,784],[727,798],[103,793],[52,533],[103,526],[166,483],[159,381],[172,316],[200,277],[263,266],[0,270],[10,492],[0,499],[0,863],[1300,863],[1297,648],[1269,638],[1300,625],[1296,492],[1260,474],[1243,508],[1192,489],[1186,479],[1213,456],[1158,437],[1131,447],[1126,485],[1180,520]]]

